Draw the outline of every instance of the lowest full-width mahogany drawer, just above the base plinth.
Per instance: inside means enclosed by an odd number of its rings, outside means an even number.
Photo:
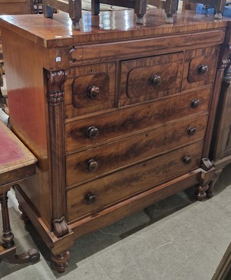
[[[168,181],[200,165],[202,141],[67,190],[68,221]]]

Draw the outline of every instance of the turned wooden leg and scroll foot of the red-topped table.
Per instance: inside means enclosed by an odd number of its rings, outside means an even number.
[[[0,193],[1,215],[3,223],[3,235],[0,249],[0,262],[3,259],[11,263],[36,262],[40,259],[40,254],[36,249],[30,249],[27,253],[16,255],[14,235],[10,228],[10,218],[8,212],[8,196],[7,193]]]

